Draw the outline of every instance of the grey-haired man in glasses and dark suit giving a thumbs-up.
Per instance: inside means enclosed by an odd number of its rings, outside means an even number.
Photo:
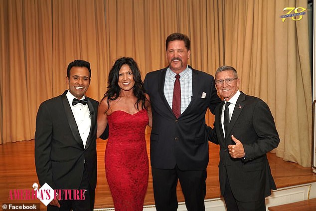
[[[220,145],[219,182],[228,211],[265,211],[265,197],[276,190],[266,153],[280,142],[268,105],[240,92],[235,68],[216,70],[224,101],[215,108],[209,139]]]

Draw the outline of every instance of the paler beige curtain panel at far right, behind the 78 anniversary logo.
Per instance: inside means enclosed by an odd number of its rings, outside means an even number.
[[[276,11],[289,7],[307,8],[307,0],[276,1]],[[281,19],[281,18],[280,18]],[[311,166],[312,85],[309,57],[308,19],[287,18],[275,22],[276,34],[276,122],[280,137],[277,156],[304,167]],[[283,115],[283,116],[282,116]]]

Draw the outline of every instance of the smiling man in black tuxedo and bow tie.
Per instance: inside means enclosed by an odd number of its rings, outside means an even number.
[[[85,200],[69,200],[70,195],[68,200],[54,199],[49,211],[92,211],[94,207],[98,101],[85,96],[90,79],[89,62],[71,62],[66,77],[69,90],[43,102],[37,112],[35,165],[40,185],[86,190]]]

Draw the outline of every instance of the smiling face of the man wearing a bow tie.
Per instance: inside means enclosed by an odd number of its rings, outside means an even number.
[[[86,67],[72,67],[66,77],[70,93],[77,99],[81,99],[90,85],[90,73]]]

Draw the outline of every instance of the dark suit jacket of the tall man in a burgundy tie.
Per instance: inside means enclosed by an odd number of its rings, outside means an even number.
[[[220,99],[214,77],[192,69],[191,102],[176,118],[164,93],[167,67],[146,75],[144,87],[153,113],[151,165],[159,169],[203,170],[208,164],[208,141],[205,125],[207,108],[214,113]],[[205,93],[205,94],[203,94]]]

